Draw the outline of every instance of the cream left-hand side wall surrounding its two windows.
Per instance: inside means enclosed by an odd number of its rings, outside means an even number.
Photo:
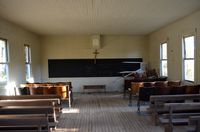
[[[39,37],[19,26],[0,18],[0,38],[8,40],[9,46],[9,82],[17,86],[25,82],[24,44],[31,46],[32,73],[36,81],[41,80]],[[0,94],[4,94],[1,92]]]

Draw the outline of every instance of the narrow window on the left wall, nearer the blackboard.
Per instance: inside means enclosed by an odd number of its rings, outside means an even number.
[[[25,74],[26,81],[31,79],[31,49],[29,45],[24,45],[25,51]]]

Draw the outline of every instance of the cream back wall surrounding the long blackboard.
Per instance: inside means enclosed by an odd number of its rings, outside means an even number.
[[[98,58],[143,58],[147,61],[146,36],[103,35]],[[119,91],[122,78],[48,78],[48,59],[94,58],[90,35],[46,36],[42,38],[42,81],[73,83],[74,91],[81,91],[84,84],[106,84],[108,91]]]

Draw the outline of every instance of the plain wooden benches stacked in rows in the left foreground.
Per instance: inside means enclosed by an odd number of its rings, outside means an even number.
[[[0,96],[0,131],[55,129],[61,113],[57,95]]]

